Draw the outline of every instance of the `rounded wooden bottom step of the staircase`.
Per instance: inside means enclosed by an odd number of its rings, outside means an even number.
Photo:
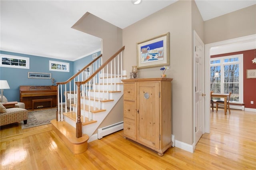
[[[82,134],[82,137],[76,138],[76,129],[66,122],[58,122],[56,119],[51,121],[52,130],[62,139],[70,151],[74,154],[80,154],[87,150],[87,141],[89,136]]]

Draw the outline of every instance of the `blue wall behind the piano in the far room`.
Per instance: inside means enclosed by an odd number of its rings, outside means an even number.
[[[28,72],[52,73],[52,78],[56,79],[56,82],[62,82],[68,80],[77,72],[76,70],[82,69],[92,61],[92,55],[76,61],[67,61],[8,51],[0,51],[0,53],[30,58],[30,69],[0,67],[0,79],[7,80],[10,86],[10,89],[4,89],[4,96],[8,101],[20,101],[20,85],[52,85],[51,79],[29,79]],[[100,51],[98,53],[100,55]],[[49,71],[49,60],[69,63],[70,72]]]

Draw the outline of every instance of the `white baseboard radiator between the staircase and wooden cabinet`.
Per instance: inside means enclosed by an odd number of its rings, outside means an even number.
[[[118,130],[122,130],[124,128],[124,121],[115,123],[114,125],[110,125],[107,127],[98,128],[98,139],[101,139],[103,136],[108,134],[117,132]]]

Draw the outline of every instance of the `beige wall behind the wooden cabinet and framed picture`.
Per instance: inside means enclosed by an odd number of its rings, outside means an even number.
[[[172,81],[172,134],[176,140],[192,144],[192,33],[191,1],[174,4],[123,29],[124,69],[129,73],[136,62],[136,43],[170,32]],[[139,78],[160,77],[160,67],[140,69]]]

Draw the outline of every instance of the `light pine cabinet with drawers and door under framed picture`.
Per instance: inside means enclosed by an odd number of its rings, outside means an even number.
[[[172,101],[168,78],[124,79],[124,137],[160,156],[171,145]]]

